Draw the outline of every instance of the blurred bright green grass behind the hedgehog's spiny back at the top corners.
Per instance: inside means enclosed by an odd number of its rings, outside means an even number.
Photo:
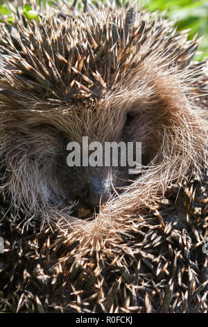
[[[24,0],[17,1],[19,3],[27,2]],[[64,1],[73,3],[74,0]],[[78,2],[80,1],[81,0],[78,0]],[[107,2],[107,0],[101,1]],[[108,2],[112,1],[115,1],[117,4],[123,4],[124,6],[132,2],[131,0],[108,0]],[[6,17],[12,22],[12,17],[10,17],[9,13],[9,2],[11,3],[12,1],[0,0],[1,21]],[[37,0],[37,3],[39,2],[40,0]],[[58,0],[43,0],[43,2],[52,4],[58,2]],[[135,2],[143,4],[144,7],[150,11],[166,10],[165,16],[175,21],[175,26],[177,26],[178,30],[191,29],[189,32],[190,39],[193,38],[193,35],[196,33],[198,33],[198,37],[205,35],[195,59],[201,61],[203,58],[208,58],[208,0],[139,0]]]

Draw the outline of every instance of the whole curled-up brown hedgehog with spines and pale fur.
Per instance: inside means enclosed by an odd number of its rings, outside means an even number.
[[[8,251],[11,233],[26,235],[21,258],[37,246],[36,266],[18,263],[16,296],[35,295],[15,310],[206,312],[208,72],[192,61],[198,43],[158,13],[86,1],[1,24],[0,231]],[[83,150],[86,136],[141,143],[140,173],[67,165],[67,145]],[[43,303],[34,278],[45,295],[55,285],[59,302],[50,293]]]

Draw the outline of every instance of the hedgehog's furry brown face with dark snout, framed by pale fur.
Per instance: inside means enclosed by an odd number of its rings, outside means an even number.
[[[61,155],[58,155],[55,160],[58,186],[62,190],[60,193],[63,194],[66,203],[78,202],[78,205],[73,208],[75,211],[76,208],[83,206],[92,209],[99,207],[107,200],[114,198],[116,194],[122,193],[126,186],[130,185],[139,175],[129,174],[128,162],[126,166],[121,166],[120,153],[118,166],[113,166],[111,161],[110,166],[103,164],[103,166],[94,167],[82,165],[69,167],[67,166],[69,153],[67,144],[77,142],[82,152],[83,137],[87,136],[89,143],[99,142],[103,145],[101,156],[104,163],[105,143],[116,142],[119,144],[123,142],[125,145],[128,143],[135,145],[136,142],[141,142],[142,164],[145,165],[155,157],[160,146],[159,141],[154,145],[149,141],[153,139],[152,134],[156,133],[151,128],[151,124],[155,123],[154,120],[147,123],[142,111],[136,110],[135,107],[131,110],[129,110],[129,106],[125,108],[125,102],[112,107],[109,101],[110,98],[106,97],[94,103],[93,106],[89,103],[84,106],[80,102],[71,106],[64,115],[60,113],[57,118],[51,120],[51,123],[62,134],[62,144],[54,151],[59,153],[59,149],[62,149]],[[135,146],[133,149],[133,159],[135,159]],[[89,154],[91,152],[89,151]]]

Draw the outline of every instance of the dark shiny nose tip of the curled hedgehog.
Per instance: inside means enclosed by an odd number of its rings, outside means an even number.
[[[105,179],[94,178],[89,185],[89,194],[87,203],[89,207],[94,209],[107,202],[111,196],[110,178]]]

